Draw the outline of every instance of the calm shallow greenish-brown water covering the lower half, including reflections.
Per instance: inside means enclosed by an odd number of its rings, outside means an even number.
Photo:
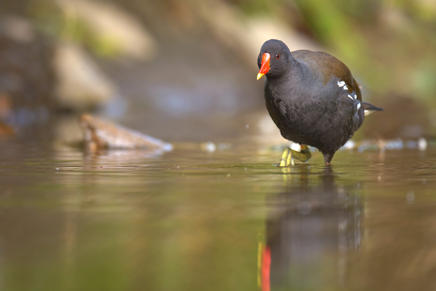
[[[0,147],[3,290],[436,288],[432,149]]]

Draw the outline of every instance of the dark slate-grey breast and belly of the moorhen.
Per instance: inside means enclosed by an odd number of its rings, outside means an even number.
[[[340,109],[341,102],[328,85],[303,81],[294,87],[266,86],[265,99],[269,115],[285,139],[323,148],[331,136],[341,135],[340,140],[348,135],[343,129],[351,112]]]

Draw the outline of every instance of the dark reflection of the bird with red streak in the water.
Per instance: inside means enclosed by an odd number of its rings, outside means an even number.
[[[347,256],[361,245],[361,197],[352,194],[353,185],[336,184],[330,167],[283,169],[283,191],[266,199],[262,291],[343,284]]]

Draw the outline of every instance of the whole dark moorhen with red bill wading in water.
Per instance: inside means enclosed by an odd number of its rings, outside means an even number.
[[[362,101],[350,70],[325,52],[290,52],[277,39],[266,41],[257,58],[265,81],[266,108],[285,139],[301,145],[300,152],[286,148],[280,166],[293,159],[310,159],[307,145],[319,149],[330,165],[334,153],[362,125],[365,115],[382,111]]]

